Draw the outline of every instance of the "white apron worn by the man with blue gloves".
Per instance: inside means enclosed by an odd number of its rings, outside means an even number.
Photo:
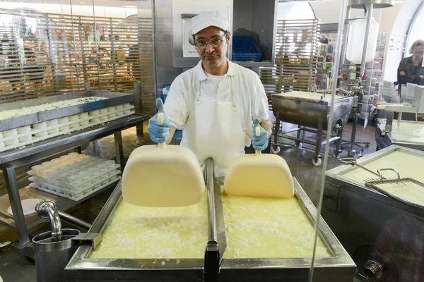
[[[245,153],[249,137],[242,130],[242,114],[235,100],[230,78],[231,102],[217,102],[201,95],[201,82],[196,99],[184,125],[181,145],[191,149],[203,166],[208,157],[216,166],[215,175],[225,176],[230,161]]]

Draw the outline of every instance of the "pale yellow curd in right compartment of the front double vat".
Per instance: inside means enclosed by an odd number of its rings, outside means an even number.
[[[312,257],[314,224],[296,197],[223,195],[227,250],[224,258]],[[317,257],[332,257],[321,236]]]

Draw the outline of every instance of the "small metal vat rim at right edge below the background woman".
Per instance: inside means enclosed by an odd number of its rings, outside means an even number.
[[[420,121],[401,121],[401,126],[408,125],[423,125],[424,128],[424,123]],[[393,119],[391,119],[391,123],[387,123],[386,118],[377,118],[377,128],[375,129],[375,141],[377,142],[377,149],[384,149],[385,147],[389,147],[391,145],[400,145],[403,147],[424,151],[424,138],[421,141],[411,141],[406,140],[406,138],[402,139],[402,136],[396,136],[391,133],[393,127],[396,126],[396,124],[393,125]]]

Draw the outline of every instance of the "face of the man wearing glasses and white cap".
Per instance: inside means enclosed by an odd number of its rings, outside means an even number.
[[[213,39],[223,38],[223,42],[221,42],[218,46],[212,46],[211,44],[207,44],[204,48],[195,46],[201,61],[206,64],[206,66],[213,68],[225,63],[227,47],[230,45],[230,34],[228,33],[227,35],[224,35],[225,32],[218,27],[207,27],[195,35],[195,42],[209,42]]]

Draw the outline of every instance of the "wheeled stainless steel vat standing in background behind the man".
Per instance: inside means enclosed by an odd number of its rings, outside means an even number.
[[[304,95],[305,94],[305,95]],[[314,95],[317,98],[312,98]],[[305,97],[302,97],[305,96]],[[334,116],[329,121],[329,113],[331,106],[331,95],[324,97],[323,94],[312,92],[287,92],[272,95],[272,109],[276,116],[276,125],[274,133],[273,152],[278,152],[278,137],[287,138],[295,141],[295,146],[299,147],[300,143],[306,143],[315,146],[315,154],[312,159],[314,166],[320,166],[321,146],[326,144],[323,140],[323,131],[326,130],[329,123],[333,126],[329,142],[336,142],[334,156],[341,154],[341,137],[343,135],[343,126],[348,121],[349,114],[353,104],[353,97],[338,97],[334,100]],[[298,128],[279,133],[280,122],[293,123]],[[288,133],[297,132],[297,137],[290,136]],[[317,133],[317,140],[312,142],[306,140],[305,133]]]

